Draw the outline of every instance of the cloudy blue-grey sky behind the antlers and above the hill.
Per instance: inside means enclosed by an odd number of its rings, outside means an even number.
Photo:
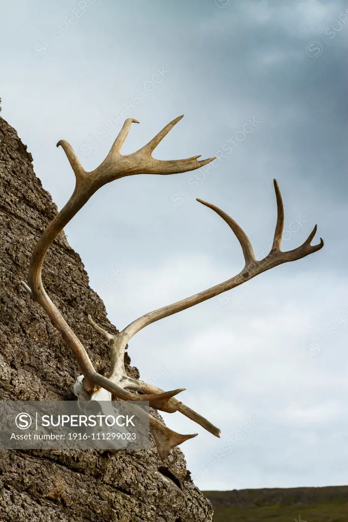
[[[314,225],[325,246],[129,342],[144,380],[222,430],[181,448],[202,490],[347,483],[348,1],[0,1],[1,115],[62,208],[74,175],[59,139],[95,169],[127,117],[122,151],[184,114],[154,156],[205,169],[125,177],[66,227],[118,329],[243,268],[232,216],[265,256],[285,207],[282,249]],[[251,130],[250,130],[251,129]],[[246,132],[248,131],[248,132]]]

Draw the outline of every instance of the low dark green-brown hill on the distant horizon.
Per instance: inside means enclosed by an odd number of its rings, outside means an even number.
[[[214,522],[348,522],[348,486],[203,493]]]

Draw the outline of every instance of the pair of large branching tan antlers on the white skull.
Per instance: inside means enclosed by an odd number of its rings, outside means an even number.
[[[184,388],[172,390],[171,392],[163,392],[160,388],[140,381],[139,379],[129,377],[126,374],[124,365],[125,348],[129,339],[145,326],[155,321],[159,321],[159,319],[185,310],[190,306],[201,303],[202,301],[206,301],[226,290],[231,290],[239,284],[242,284],[274,266],[305,257],[308,254],[316,252],[323,246],[322,240],[318,245],[310,245],[316,232],[315,227],[303,245],[290,252],[282,252],[280,250],[284,224],[284,210],[279,187],[275,180],[274,188],[277,197],[278,219],[275,227],[272,250],[264,259],[261,261],[256,260],[247,235],[230,216],[218,207],[198,199],[200,203],[217,212],[224,221],[229,224],[232,231],[235,233],[244,253],[245,267],[243,270],[239,272],[238,275],[224,281],[223,283],[217,284],[208,290],[139,317],[115,336],[107,333],[107,331],[98,326],[90,316],[88,317],[90,325],[109,342],[112,367],[109,378],[104,377],[95,371],[85,348],[46,294],[41,280],[41,269],[47,249],[52,244],[56,235],[65,227],[68,221],[75,216],[78,210],[87,203],[88,199],[98,190],[98,188],[106,183],[118,179],[119,177],[133,174],[173,174],[195,170],[214,159],[209,158],[207,160],[197,161],[199,156],[194,156],[184,160],[162,161],[154,159],[151,156],[155,147],[157,147],[164,136],[179,120],[181,120],[181,118],[182,116],[179,116],[166,125],[157,136],[138,151],[123,156],[119,151],[121,150],[121,146],[128,134],[130,124],[138,123],[136,120],[128,118],[128,120],[125,121],[121,132],[118,134],[109,155],[107,155],[101,165],[92,172],[86,172],[83,170],[74,150],[66,141],[61,140],[58,142],[57,146],[61,145],[63,147],[70,165],[74,170],[76,186],[68,203],[57,214],[57,216],[55,216],[41,235],[37,245],[35,245],[30,260],[29,286],[23,281],[22,286],[28,291],[32,298],[43,307],[47,315],[49,315],[53,325],[58,329],[70,348],[74,351],[81,372],[83,373],[83,388],[86,390],[90,398],[95,396],[98,389],[104,388],[112,394],[112,397],[121,400],[149,401],[150,406],[158,410],[169,413],[175,411],[183,413],[186,417],[197,422],[207,431],[219,437],[220,430],[216,428],[216,426],[174,398],[174,396],[179,392],[182,392]],[[135,395],[127,391],[127,389],[137,390],[138,392],[141,392],[141,395]],[[169,455],[174,446],[177,446],[178,444],[188,440],[188,438],[197,435],[181,435],[173,432],[152,416],[150,416],[150,429],[154,436],[159,455],[162,459]]]

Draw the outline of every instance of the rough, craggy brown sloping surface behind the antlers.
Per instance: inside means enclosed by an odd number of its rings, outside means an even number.
[[[35,176],[32,157],[0,117],[0,400],[67,400],[79,375],[69,348],[41,307],[20,286],[32,247],[57,212]],[[79,255],[64,232],[47,254],[43,281],[105,374],[106,342],[88,325],[91,314],[116,333],[89,287]],[[138,377],[125,355],[127,371]],[[114,455],[97,450],[0,452],[1,522],[209,522],[212,508],[196,488],[178,448],[163,463],[149,450]]]

